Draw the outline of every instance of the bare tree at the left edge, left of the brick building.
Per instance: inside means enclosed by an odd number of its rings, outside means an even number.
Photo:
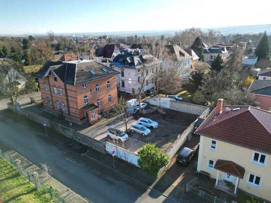
[[[19,95],[22,94],[26,83],[26,78],[17,67],[18,64],[14,61],[0,65],[0,91],[9,98],[12,104],[15,104]]]

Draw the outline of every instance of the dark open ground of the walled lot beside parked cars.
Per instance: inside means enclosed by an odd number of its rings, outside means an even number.
[[[197,115],[177,112],[169,109],[156,110],[150,114],[136,115],[135,120],[145,117],[159,124],[157,129],[151,129],[150,136],[142,136],[137,133],[129,133],[129,137],[144,143],[153,143],[162,151],[171,148],[172,143],[185,129],[197,119]]]

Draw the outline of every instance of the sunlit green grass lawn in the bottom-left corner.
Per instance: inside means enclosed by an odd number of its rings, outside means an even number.
[[[8,203],[53,203],[50,194],[38,191],[21,177],[6,160],[0,158],[0,199]]]

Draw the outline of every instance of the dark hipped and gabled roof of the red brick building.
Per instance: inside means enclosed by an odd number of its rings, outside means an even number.
[[[43,78],[49,71],[53,71],[60,80],[71,85],[79,85],[84,82],[99,80],[119,74],[119,72],[96,61],[84,60],[69,62],[48,61],[34,76]],[[90,71],[92,71],[92,73]]]

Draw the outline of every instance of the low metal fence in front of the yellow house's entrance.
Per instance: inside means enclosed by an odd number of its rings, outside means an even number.
[[[199,188],[196,188],[193,186],[193,184],[186,184],[186,192],[192,193],[199,198],[211,202],[211,203],[225,203],[225,201],[220,200],[217,196],[215,196],[212,193],[209,193],[208,191],[201,190]]]

